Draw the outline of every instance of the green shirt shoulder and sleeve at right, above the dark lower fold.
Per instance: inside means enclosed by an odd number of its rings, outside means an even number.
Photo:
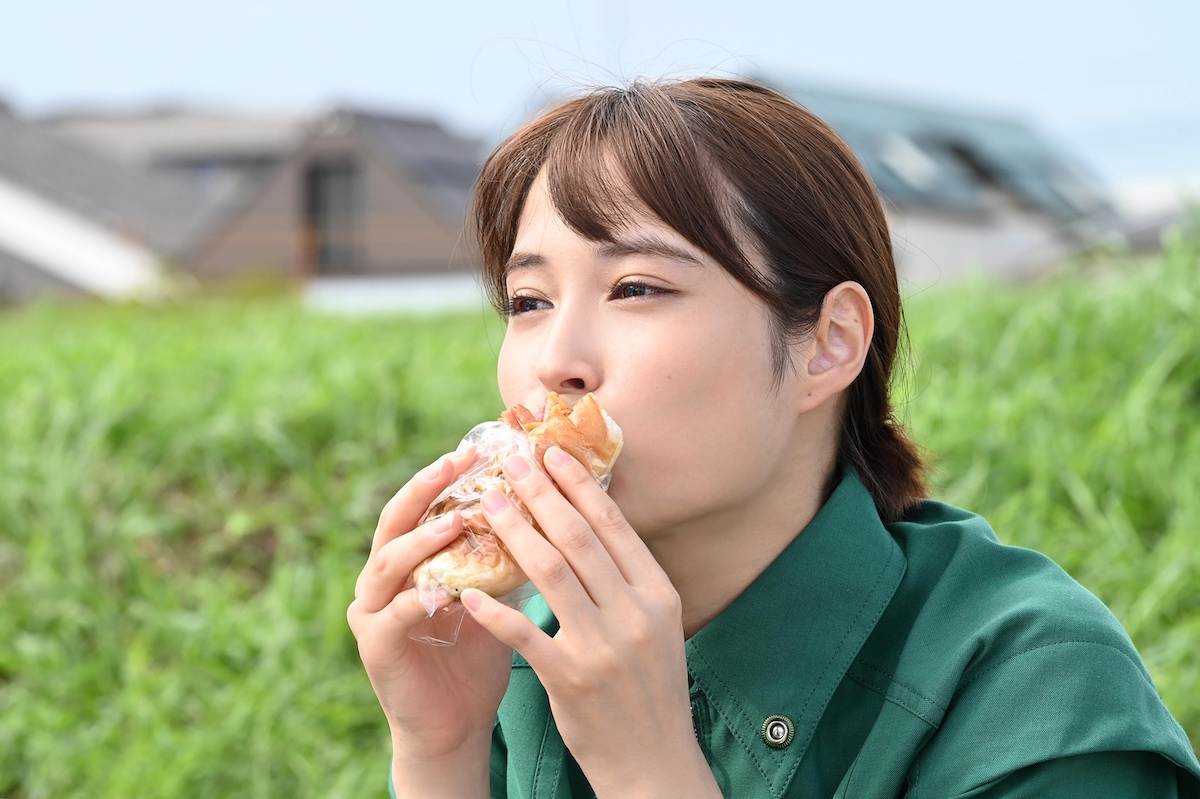
[[[949,505],[924,503],[888,527],[907,570],[859,660],[929,701],[932,729],[911,795],[958,795],[1102,752],[1154,752],[1195,783],[1186,734],[1120,621],[1086,588]]]

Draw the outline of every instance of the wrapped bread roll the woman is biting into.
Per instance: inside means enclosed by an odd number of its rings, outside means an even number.
[[[470,431],[462,446],[475,447],[475,463],[442,492],[421,519],[455,511],[462,516],[462,534],[413,571],[413,583],[425,608],[432,614],[448,596],[458,596],[468,588],[504,596],[529,581],[493,533],[480,506],[484,492],[494,488],[533,521],[504,482],[505,458],[523,455],[541,468],[546,450],[559,446],[607,488],[622,443],[620,428],[590,394],[576,402],[575,408],[557,394],[550,394],[540,415],[524,405],[514,405],[499,421]]]

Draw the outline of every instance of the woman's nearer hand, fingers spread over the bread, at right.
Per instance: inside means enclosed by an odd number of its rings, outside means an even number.
[[[504,465],[545,537],[502,493],[482,504],[558,633],[481,591],[463,603],[538,673],[598,797],[719,797],[692,731],[678,593],[587,469],[557,447],[545,465],[553,482],[524,458]]]

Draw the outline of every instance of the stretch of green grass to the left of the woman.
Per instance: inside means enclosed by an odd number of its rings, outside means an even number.
[[[479,314],[0,319],[0,797],[378,795],[379,509],[499,411]]]

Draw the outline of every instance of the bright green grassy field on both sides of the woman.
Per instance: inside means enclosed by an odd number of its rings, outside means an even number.
[[[910,306],[937,494],[1117,613],[1200,739],[1200,244]],[[344,609],[378,511],[499,410],[484,314],[0,314],[0,797],[370,797]]]

